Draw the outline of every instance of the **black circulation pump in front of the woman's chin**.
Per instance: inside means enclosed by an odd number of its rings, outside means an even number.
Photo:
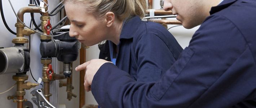
[[[54,32],[54,35],[59,35],[65,31]],[[55,40],[41,40],[40,53],[41,59],[50,59],[57,57],[57,59],[63,62],[63,74],[65,77],[71,75],[71,62],[78,58],[78,40],[75,37],[70,37],[69,33],[56,36]]]

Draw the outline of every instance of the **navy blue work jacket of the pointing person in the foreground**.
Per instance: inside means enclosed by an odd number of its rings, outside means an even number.
[[[212,7],[158,82],[136,82],[112,63],[92,81],[102,108],[255,108],[256,1]]]

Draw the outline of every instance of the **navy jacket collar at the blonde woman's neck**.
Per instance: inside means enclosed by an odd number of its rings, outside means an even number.
[[[124,22],[124,25],[122,27],[120,39],[133,38],[133,33],[137,31],[137,28],[140,25],[140,22],[141,22],[141,19],[139,16],[135,16],[131,19],[127,19],[127,21]]]

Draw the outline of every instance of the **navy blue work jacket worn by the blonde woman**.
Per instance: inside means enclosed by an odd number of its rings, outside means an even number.
[[[100,59],[110,59],[109,41],[100,45]],[[183,50],[161,24],[135,16],[124,22],[116,66],[136,81],[159,81]]]

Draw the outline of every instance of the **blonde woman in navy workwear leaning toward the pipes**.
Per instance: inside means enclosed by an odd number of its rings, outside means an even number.
[[[69,35],[87,46],[107,40],[100,58],[136,81],[158,81],[183,50],[162,25],[141,21],[145,0],[65,0]]]

